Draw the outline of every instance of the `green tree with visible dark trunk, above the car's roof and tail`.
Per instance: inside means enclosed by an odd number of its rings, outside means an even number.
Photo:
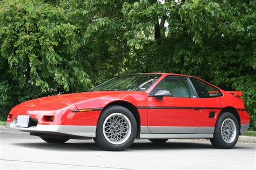
[[[139,1],[122,11],[134,51],[130,72],[190,74],[243,91],[256,128],[255,1]]]

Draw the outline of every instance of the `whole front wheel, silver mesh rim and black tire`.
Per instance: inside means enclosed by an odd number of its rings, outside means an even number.
[[[122,151],[130,147],[137,135],[137,121],[123,106],[111,106],[98,120],[96,145],[107,151]]]

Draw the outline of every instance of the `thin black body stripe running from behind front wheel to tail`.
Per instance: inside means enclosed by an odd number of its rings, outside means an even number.
[[[194,110],[203,110],[203,109],[212,109],[212,110],[222,110],[224,107],[169,107],[169,106],[139,106],[138,109],[194,109]],[[244,108],[235,108],[238,111],[245,111]]]

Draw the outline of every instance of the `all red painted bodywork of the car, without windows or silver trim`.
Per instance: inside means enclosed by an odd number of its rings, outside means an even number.
[[[126,101],[135,107],[202,107],[193,108],[139,108],[141,126],[215,126],[221,109],[207,107],[233,107],[244,109],[244,102],[240,96],[241,92],[226,92],[221,97],[215,98],[174,98],[164,97],[157,100],[149,97],[153,88],[166,76],[185,76],[181,74],[161,73],[161,77],[146,91],[100,91],[63,94],[44,97],[26,101],[12,108],[9,113],[8,122],[17,118],[18,114],[30,114],[32,119],[38,119],[42,125],[97,125],[99,115],[102,111],[71,112],[72,110],[84,108],[104,108],[114,101]],[[191,77],[191,76],[186,76]],[[205,81],[204,81],[205,82]],[[207,82],[206,82],[207,83]],[[209,83],[208,83],[209,84]],[[214,86],[216,87],[216,86]],[[218,88],[218,87],[216,87]],[[218,88],[219,89],[219,88]],[[210,112],[216,112],[215,118],[208,118]],[[250,122],[246,111],[238,110],[241,124]],[[44,115],[54,116],[53,121],[45,121]]]

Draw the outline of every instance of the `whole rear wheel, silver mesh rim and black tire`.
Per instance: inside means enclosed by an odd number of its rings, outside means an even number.
[[[213,138],[210,138],[212,145],[216,148],[233,148],[237,144],[238,136],[237,118],[230,112],[221,113],[215,125]]]

